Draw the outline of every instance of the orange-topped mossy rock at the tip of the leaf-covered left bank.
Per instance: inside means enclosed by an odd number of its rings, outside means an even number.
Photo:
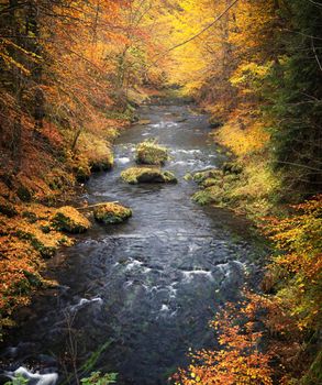
[[[70,206],[56,210],[51,222],[56,230],[71,234],[82,233],[90,228],[89,220]]]

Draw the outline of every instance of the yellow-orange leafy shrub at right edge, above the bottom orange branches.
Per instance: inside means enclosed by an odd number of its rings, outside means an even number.
[[[299,330],[315,330],[322,320],[322,196],[292,209],[288,218],[266,221],[265,233],[279,251],[268,268],[287,282],[280,297],[290,304]]]

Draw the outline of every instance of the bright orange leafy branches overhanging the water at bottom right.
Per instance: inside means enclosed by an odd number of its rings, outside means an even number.
[[[257,305],[227,305],[220,311],[211,322],[219,333],[220,349],[191,353],[191,364],[175,375],[176,384],[271,385],[270,354],[260,351],[263,333],[254,323]]]

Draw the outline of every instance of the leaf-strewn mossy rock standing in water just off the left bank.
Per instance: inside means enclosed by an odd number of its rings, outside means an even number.
[[[119,204],[108,202],[96,207],[93,217],[104,224],[122,223],[132,217],[132,210]]]

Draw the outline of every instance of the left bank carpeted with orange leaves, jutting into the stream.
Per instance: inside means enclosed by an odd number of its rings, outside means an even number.
[[[86,230],[90,223],[76,209],[46,208],[42,205],[11,205],[0,199],[0,329],[12,323],[11,316],[30,302],[31,294],[44,285],[44,258],[74,240],[69,232]],[[58,217],[57,217],[58,216]],[[60,220],[59,222],[57,222]],[[1,337],[1,332],[0,332]]]

